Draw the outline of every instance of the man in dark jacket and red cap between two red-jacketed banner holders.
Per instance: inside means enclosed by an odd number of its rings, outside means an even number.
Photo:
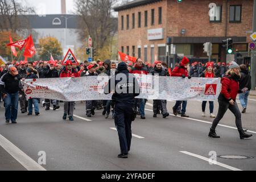
[[[167,76],[166,69],[162,67],[162,61],[155,61],[155,68],[152,69],[150,72],[152,75],[158,76]],[[167,111],[167,101],[166,100],[153,100],[153,111],[154,111],[154,118],[158,114],[158,107],[160,106],[163,118],[168,117],[170,114]]]

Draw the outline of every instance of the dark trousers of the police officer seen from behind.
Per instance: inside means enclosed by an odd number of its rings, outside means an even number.
[[[128,154],[130,151],[132,115],[133,105],[127,105],[122,102],[115,103],[115,127],[117,127],[119,144],[122,154]]]

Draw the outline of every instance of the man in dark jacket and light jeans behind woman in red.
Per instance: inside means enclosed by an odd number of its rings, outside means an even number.
[[[245,64],[241,64],[240,69],[241,69],[240,90],[242,90],[243,88],[248,89],[245,93],[239,94],[239,99],[243,107],[242,113],[246,113],[248,96],[251,90],[251,76],[249,75],[249,72],[247,71]]]

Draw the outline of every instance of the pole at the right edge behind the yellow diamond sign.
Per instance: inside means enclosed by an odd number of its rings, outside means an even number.
[[[256,0],[253,2],[253,32],[256,32]],[[256,51],[251,51],[251,90],[255,90],[256,82]]]

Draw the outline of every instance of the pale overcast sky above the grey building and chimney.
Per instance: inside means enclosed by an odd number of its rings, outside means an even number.
[[[22,5],[34,7],[36,14],[60,14],[61,0],[16,0],[22,2]],[[75,12],[75,1],[66,0],[67,14]],[[119,0],[120,3],[125,0]],[[126,0],[127,1],[127,0]]]

